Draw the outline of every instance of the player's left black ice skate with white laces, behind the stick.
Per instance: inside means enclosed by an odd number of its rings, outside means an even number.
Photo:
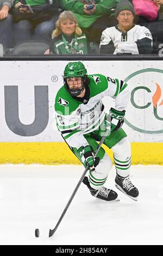
[[[89,188],[93,197],[97,197],[105,201],[120,201],[120,199],[118,199],[118,194],[115,191],[110,190],[109,188],[102,187],[99,190],[95,190],[94,188],[92,188],[86,176],[83,179],[83,183]]]

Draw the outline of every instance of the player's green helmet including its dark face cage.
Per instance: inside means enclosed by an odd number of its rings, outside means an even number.
[[[67,83],[67,78],[82,77],[82,86],[80,88],[70,89]],[[82,62],[69,62],[64,70],[64,84],[68,93],[72,96],[80,95],[85,86],[87,80],[87,70]]]

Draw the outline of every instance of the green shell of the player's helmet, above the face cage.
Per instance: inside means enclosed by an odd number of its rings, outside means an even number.
[[[64,70],[64,78],[84,77],[87,70],[82,62],[69,62]]]

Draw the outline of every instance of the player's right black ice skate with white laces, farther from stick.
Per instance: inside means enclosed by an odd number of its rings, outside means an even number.
[[[122,191],[131,199],[137,201],[137,197],[139,196],[139,191],[130,181],[129,175],[123,178],[122,176],[117,174],[115,178],[115,182],[116,182],[115,186],[118,188],[118,190]]]

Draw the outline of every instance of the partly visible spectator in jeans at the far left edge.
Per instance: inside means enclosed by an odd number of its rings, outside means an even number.
[[[13,5],[14,0],[0,1],[0,44],[5,48],[12,48],[13,33],[12,33],[12,16],[9,10]]]

